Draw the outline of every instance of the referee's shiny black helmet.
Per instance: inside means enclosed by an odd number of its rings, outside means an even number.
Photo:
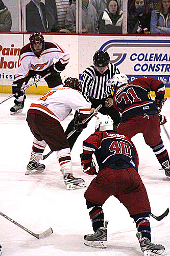
[[[96,67],[106,67],[109,64],[109,54],[106,51],[96,51],[93,56],[93,64]]]

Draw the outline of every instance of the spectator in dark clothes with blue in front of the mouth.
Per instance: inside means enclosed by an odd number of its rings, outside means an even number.
[[[146,0],[133,0],[128,11],[128,34],[149,34],[150,21]]]

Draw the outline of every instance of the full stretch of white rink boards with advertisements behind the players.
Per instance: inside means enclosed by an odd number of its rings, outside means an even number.
[[[81,79],[82,72],[93,65],[95,51],[107,50],[110,61],[130,80],[153,77],[161,80],[167,89],[170,88],[170,36],[44,34],[44,39],[56,42],[70,52],[70,61],[61,73],[63,81],[67,77]],[[0,93],[11,93],[19,51],[28,42],[29,34],[0,34]],[[45,81],[39,82],[38,87],[41,90],[32,86],[27,93],[42,94],[48,90]]]

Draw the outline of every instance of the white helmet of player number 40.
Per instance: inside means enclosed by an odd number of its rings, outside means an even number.
[[[104,132],[107,130],[113,130],[113,120],[109,115],[100,114],[100,116],[98,116],[97,120],[95,121],[95,132]]]

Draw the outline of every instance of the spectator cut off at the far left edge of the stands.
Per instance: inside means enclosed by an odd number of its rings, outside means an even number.
[[[0,0],[0,31],[10,31],[12,26],[11,13]]]

